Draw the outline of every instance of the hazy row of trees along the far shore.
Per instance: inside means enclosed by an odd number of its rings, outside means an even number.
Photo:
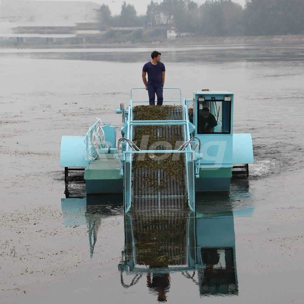
[[[123,2],[120,15],[101,5],[98,20],[110,27],[176,27],[178,32],[204,36],[267,36],[304,34],[304,0],[247,0],[245,7],[232,0],[151,1],[145,15]]]

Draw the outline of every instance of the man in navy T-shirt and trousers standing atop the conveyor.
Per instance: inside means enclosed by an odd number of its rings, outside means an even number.
[[[153,51],[152,60],[143,66],[143,83],[148,90],[149,104],[155,105],[155,94],[157,96],[157,105],[163,104],[163,88],[165,83],[165,65],[161,62],[161,53]],[[148,73],[148,82],[146,74]]]

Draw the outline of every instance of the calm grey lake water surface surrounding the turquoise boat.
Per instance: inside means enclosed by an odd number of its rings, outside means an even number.
[[[195,216],[125,216],[119,196],[86,198],[81,181],[64,184],[61,136],[96,117],[119,133],[115,109],[143,86],[152,50],[2,49],[0,302],[304,303],[303,47],[157,49],[182,97],[234,92],[234,132],[253,139],[250,178],[198,195]]]

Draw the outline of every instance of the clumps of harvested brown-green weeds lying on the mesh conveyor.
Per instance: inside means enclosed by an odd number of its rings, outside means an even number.
[[[183,119],[181,106],[146,106],[133,108],[133,120],[171,120]],[[177,117],[178,116],[178,117]],[[141,150],[177,150],[185,142],[184,127],[176,125],[133,126],[133,142]],[[182,158],[182,161],[180,159]],[[141,192],[150,188],[161,191],[173,179],[181,188],[185,185],[185,156],[172,153],[134,154],[132,170],[142,170],[134,174],[134,181],[141,179]],[[157,172],[164,171],[164,178]],[[149,174],[147,174],[149,172]],[[144,175],[144,177],[143,177]]]

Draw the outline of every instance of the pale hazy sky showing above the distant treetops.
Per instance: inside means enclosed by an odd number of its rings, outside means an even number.
[[[1,1],[1,0],[0,0]],[[36,1],[45,1],[45,0],[36,0]],[[48,1],[60,1],[60,0],[48,0]],[[65,1],[75,1],[75,0],[65,0]],[[76,0],[77,1],[77,0]],[[109,5],[109,9],[112,12],[112,15],[119,15],[121,11],[121,6],[123,4],[123,0],[83,0],[80,2],[95,2],[97,4],[107,4]],[[146,13],[147,10],[147,5],[151,2],[151,0],[125,0],[126,4],[133,4],[136,11],[137,15],[143,15]],[[244,7],[246,0],[233,0],[233,2],[239,3]],[[162,0],[154,0],[154,2],[162,2]],[[194,2],[197,2],[199,4],[204,3],[205,0],[197,0]]]

